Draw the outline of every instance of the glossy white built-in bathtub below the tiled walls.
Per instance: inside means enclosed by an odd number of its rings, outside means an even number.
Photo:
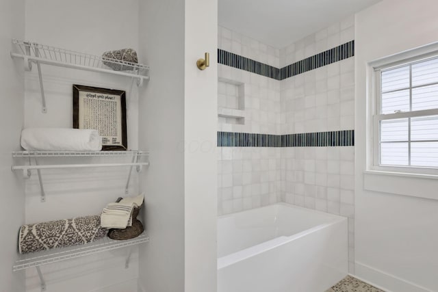
[[[347,271],[345,217],[285,203],[218,217],[218,292],[324,292]]]

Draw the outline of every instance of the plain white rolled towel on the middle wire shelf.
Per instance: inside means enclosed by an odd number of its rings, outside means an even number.
[[[27,128],[21,131],[21,146],[29,151],[99,151],[99,131],[68,128]]]

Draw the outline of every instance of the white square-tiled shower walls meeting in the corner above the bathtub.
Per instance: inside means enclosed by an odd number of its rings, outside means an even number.
[[[314,135],[318,141],[324,140],[315,142],[308,134],[310,141],[294,142],[292,147],[286,141],[274,147],[264,147],[266,141],[250,142],[248,147],[219,147],[218,214],[282,201],[344,215],[348,217],[351,273],[354,273],[355,200],[354,31],[351,16],[281,50],[223,27],[219,27],[218,36],[219,112],[223,112],[223,107],[233,107],[237,111],[232,114],[240,117],[218,118],[219,135],[261,133],[271,134],[276,140],[275,135],[318,133]],[[333,146],[339,145],[337,132],[345,130],[349,130],[348,139],[339,143],[344,146]],[[330,135],[333,139],[326,140]],[[231,140],[236,137],[239,136],[230,134],[223,145],[232,145]],[[240,140],[237,143],[246,144]],[[253,147],[254,144],[263,147]]]

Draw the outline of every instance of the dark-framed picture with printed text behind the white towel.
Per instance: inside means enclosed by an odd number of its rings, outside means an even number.
[[[102,150],[127,150],[126,92],[73,84],[73,128],[98,130]]]

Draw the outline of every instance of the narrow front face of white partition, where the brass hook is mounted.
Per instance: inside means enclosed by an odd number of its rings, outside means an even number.
[[[200,13],[201,12],[201,13]],[[185,0],[185,290],[216,291],[218,1]],[[210,66],[196,60],[210,53]]]

